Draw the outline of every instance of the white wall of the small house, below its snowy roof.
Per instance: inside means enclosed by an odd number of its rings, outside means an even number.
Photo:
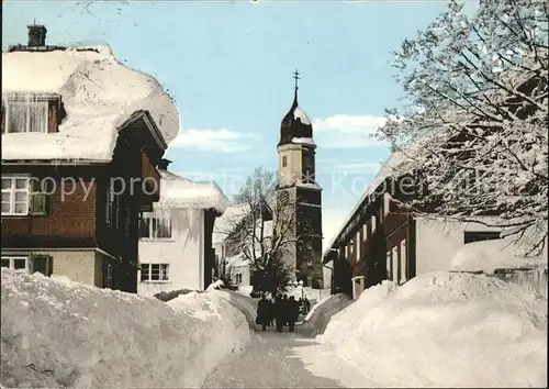
[[[169,264],[169,281],[141,282],[137,293],[152,296],[177,289],[204,289],[204,211],[171,210],[171,240],[139,241],[142,264]]]

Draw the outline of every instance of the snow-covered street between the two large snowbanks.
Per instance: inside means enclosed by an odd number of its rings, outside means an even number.
[[[249,346],[231,354],[203,388],[349,388],[370,386],[354,367],[318,344],[309,331],[257,331]],[[374,385],[372,385],[374,386]]]

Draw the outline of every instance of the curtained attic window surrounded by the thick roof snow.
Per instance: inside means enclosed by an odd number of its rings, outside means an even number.
[[[47,132],[47,101],[8,101],[5,104],[5,132]]]

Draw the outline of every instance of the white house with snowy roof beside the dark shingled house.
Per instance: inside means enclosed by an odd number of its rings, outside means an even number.
[[[212,218],[223,214],[228,200],[214,182],[194,182],[166,170],[160,176],[160,201],[139,223],[137,293],[204,290],[214,264]]]

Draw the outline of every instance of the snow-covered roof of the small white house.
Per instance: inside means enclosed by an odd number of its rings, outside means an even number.
[[[199,208],[225,212],[228,199],[215,182],[195,182],[166,170],[160,173],[158,209]]]

